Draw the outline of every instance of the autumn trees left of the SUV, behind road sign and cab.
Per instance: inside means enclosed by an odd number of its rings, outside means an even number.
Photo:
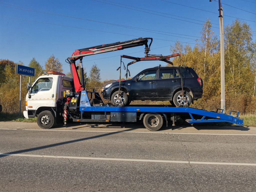
[[[16,64],[23,65],[21,61],[14,63],[8,59],[0,59],[0,99],[1,105],[3,105],[3,111],[5,113],[14,114],[19,112],[19,94],[20,94],[20,75],[15,74]],[[76,64],[78,67],[79,63]],[[53,70],[58,72],[63,72],[62,64],[58,58],[51,55],[45,62],[45,69],[33,58],[28,67],[35,69],[35,76],[31,77],[31,84],[36,80],[36,78],[42,74],[46,74],[47,71]],[[80,70],[78,70],[78,75],[81,78]],[[71,77],[70,72],[66,76]],[[99,89],[101,83],[100,69],[94,64],[90,70],[89,77],[87,73],[84,72],[84,79],[86,83],[86,88],[88,90],[93,90],[94,88]],[[25,98],[27,94],[26,84],[29,82],[28,76],[22,77],[22,111],[25,111]],[[1,115],[1,113],[0,113]]]

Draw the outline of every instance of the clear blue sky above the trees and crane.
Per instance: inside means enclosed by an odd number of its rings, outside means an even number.
[[[221,4],[224,27],[239,18],[251,26],[255,41],[256,1],[221,0]],[[44,67],[54,54],[67,73],[70,67],[65,60],[76,49],[139,37],[153,38],[150,54],[170,55],[170,45],[176,40],[193,47],[207,18],[219,38],[218,9],[214,0],[0,0],[0,59],[28,66],[34,57]],[[101,81],[117,80],[120,55],[144,57],[144,47],[84,57],[83,67],[89,75],[95,63],[101,70]],[[123,61],[127,64],[131,60]],[[135,76],[157,65],[156,61],[139,62],[129,70]]]

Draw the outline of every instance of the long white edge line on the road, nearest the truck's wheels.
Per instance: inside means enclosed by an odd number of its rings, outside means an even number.
[[[222,133],[172,133],[172,132],[143,132],[143,131],[86,131],[86,130],[45,130],[45,129],[22,129],[25,131],[80,131],[80,132],[122,132],[122,133],[152,133],[152,134],[188,134],[188,135],[253,135],[256,134],[222,134]]]

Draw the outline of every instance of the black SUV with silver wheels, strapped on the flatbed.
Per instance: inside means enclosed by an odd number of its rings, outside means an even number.
[[[182,84],[184,97],[182,95]],[[126,106],[134,100],[170,101],[176,106],[189,106],[202,97],[203,81],[193,68],[158,66],[145,69],[130,80],[110,83],[103,90],[103,98],[114,106]]]

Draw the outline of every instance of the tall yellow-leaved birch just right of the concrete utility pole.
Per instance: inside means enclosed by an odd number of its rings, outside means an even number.
[[[225,79],[227,91],[248,93],[251,77],[249,53],[252,45],[252,31],[248,24],[235,20],[224,30]],[[251,80],[250,80],[251,81]]]

